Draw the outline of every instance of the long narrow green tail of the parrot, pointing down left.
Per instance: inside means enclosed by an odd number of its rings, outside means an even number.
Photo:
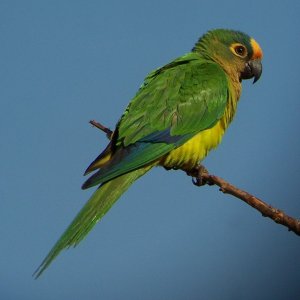
[[[102,184],[79,211],[33,276],[38,278],[63,249],[77,246],[130,185],[151,168],[152,166],[147,166],[134,170]]]

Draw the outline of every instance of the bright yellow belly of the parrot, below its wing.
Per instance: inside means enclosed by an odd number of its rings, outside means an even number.
[[[214,127],[201,131],[182,146],[172,150],[159,164],[166,168],[184,170],[195,167],[221,142],[224,131],[224,122],[220,120]]]

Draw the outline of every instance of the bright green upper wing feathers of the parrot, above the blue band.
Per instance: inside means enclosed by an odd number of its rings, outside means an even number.
[[[117,126],[118,143],[166,129],[171,136],[207,129],[223,115],[227,89],[218,64],[188,53],[148,75]]]

